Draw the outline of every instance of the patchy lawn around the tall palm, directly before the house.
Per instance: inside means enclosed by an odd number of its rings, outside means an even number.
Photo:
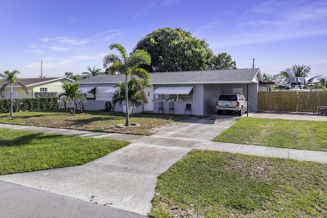
[[[137,113],[130,117],[130,123],[141,126],[135,128],[118,128],[125,124],[126,116],[122,112],[84,111],[69,114],[65,109],[53,111],[15,112],[13,117],[0,114],[0,123],[27,125],[37,127],[53,127],[76,129],[94,132],[125,133],[136,135],[151,135],[151,128],[180,120],[181,115]]]

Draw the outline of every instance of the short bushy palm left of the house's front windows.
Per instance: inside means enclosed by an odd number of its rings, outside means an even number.
[[[59,94],[59,99],[63,99],[66,104],[68,103],[71,108],[71,113],[75,114],[77,103],[80,105],[81,111],[83,111],[86,99],[84,96],[79,95],[79,85],[78,83],[64,83],[62,84],[63,92]],[[82,101],[82,100],[83,101]]]

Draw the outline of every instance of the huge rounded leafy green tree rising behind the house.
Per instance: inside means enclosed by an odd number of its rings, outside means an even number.
[[[182,29],[153,31],[137,42],[134,51],[139,49],[151,56],[151,65],[143,66],[149,72],[204,70],[214,56],[205,40]]]

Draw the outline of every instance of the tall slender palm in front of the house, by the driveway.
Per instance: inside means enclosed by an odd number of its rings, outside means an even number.
[[[151,56],[148,52],[144,50],[135,50],[130,56],[127,56],[125,48],[119,43],[112,43],[109,46],[110,50],[116,49],[120,52],[119,55],[108,54],[103,59],[103,68],[109,68],[111,74],[118,72],[125,75],[125,90],[128,89],[128,75],[132,78],[133,76],[138,77],[141,80],[150,81],[148,71],[139,67],[142,64],[149,65],[151,63]],[[148,99],[146,92],[144,91],[142,84],[139,83],[137,79],[134,80],[135,86],[140,90],[141,94],[144,96],[145,104],[148,104]],[[143,91],[142,91],[143,90]],[[128,101],[128,91],[125,92],[126,101],[126,124],[129,127],[129,101]]]

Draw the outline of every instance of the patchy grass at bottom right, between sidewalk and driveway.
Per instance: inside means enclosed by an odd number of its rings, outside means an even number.
[[[152,217],[327,217],[327,164],[193,150],[158,177]]]

